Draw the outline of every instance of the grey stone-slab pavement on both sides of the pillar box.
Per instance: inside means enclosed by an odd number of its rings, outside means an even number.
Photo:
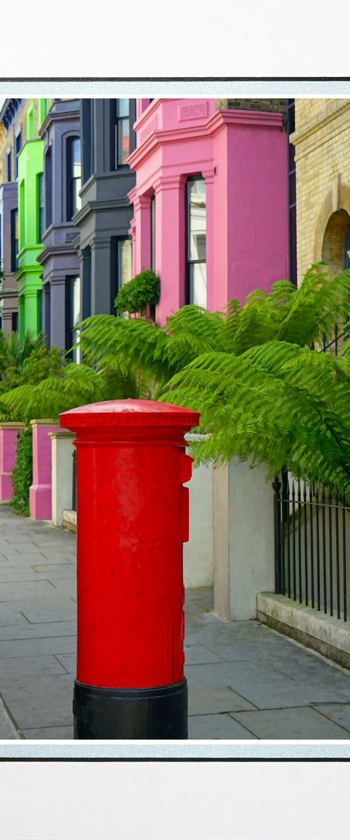
[[[185,601],[189,738],[350,740],[350,672]],[[73,737],[76,537],[0,505],[0,739]]]

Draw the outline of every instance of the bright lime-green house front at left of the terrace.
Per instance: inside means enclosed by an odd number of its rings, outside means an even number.
[[[44,230],[43,140],[27,140],[18,155],[18,329],[35,336],[41,329],[42,267],[37,257],[43,249]]]

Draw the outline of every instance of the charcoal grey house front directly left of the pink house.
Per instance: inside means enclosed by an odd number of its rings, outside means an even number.
[[[131,279],[128,192],[135,174],[126,161],[135,148],[135,99],[81,100],[81,209],[76,247],[81,315],[114,314],[118,288]]]

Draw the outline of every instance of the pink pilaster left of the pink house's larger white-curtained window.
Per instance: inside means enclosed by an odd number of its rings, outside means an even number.
[[[185,177],[159,178],[155,191],[155,270],[161,277],[156,322],[185,304]]]

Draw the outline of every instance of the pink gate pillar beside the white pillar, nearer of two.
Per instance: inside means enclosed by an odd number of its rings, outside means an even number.
[[[51,519],[51,438],[60,426],[50,420],[31,420],[33,427],[33,484],[29,488],[32,519]]]

